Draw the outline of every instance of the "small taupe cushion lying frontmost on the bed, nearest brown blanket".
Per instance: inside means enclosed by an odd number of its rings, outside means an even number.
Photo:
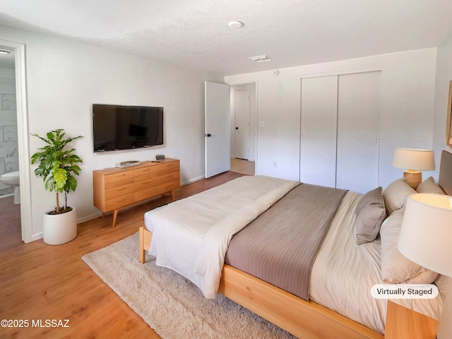
[[[386,218],[382,193],[383,189],[377,187],[364,194],[356,206],[355,230],[358,245],[373,242],[379,235],[381,223]]]

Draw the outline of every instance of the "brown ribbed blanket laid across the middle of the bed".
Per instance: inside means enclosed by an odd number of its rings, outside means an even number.
[[[308,300],[314,259],[346,192],[300,184],[234,235],[225,263]]]

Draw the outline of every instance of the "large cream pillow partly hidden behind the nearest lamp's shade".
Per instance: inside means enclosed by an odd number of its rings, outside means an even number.
[[[386,284],[431,284],[438,273],[403,256],[397,247],[405,208],[396,210],[381,225],[381,278]]]

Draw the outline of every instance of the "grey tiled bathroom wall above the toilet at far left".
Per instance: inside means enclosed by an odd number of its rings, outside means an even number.
[[[0,78],[0,174],[18,169],[16,81]],[[13,187],[0,182],[0,195],[11,193]]]

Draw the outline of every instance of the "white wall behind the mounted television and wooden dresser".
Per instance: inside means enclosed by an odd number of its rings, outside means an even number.
[[[181,160],[182,182],[204,176],[204,81],[220,82],[222,77],[6,26],[1,26],[0,39],[26,45],[30,133],[44,135],[61,128],[68,136],[84,136],[72,144],[83,164],[77,190],[68,199],[69,206],[77,207],[78,221],[99,212],[93,206],[93,169],[165,154]],[[164,107],[165,144],[145,150],[93,153],[94,102]],[[42,145],[30,137],[30,153]],[[37,239],[42,232],[42,213],[54,208],[54,194],[45,191],[42,179],[35,177],[30,189],[31,234]]]

